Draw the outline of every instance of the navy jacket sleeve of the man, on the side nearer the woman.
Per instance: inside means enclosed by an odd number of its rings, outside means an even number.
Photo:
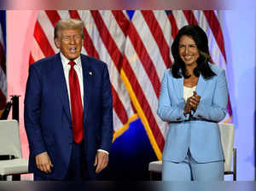
[[[102,142],[100,149],[110,152],[113,139],[113,98],[108,74],[104,64],[102,80]]]

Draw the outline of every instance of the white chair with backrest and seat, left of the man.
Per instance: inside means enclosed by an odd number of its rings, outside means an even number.
[[[28,160],[22,158],[17,120],[0,120],[0,180],[28,173]]]

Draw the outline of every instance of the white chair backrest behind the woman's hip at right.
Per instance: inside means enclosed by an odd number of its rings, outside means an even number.
[[[232,153],[234,147],[234,124],[218,124],[221,136],[222,148],[224,150],[224,171],[231,171]]]

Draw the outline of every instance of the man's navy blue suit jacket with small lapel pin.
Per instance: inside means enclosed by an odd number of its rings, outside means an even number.
[[[84,78],[84,152],[88,176],[96,177],[96,151],[110,151],[113,137],[112,93],[108,67],[81,55]],[[83,99],[83,98],[82,98]],[[73,142],[72,120],[60,54],[37,61],[29,68],[25,96],[25,128],[30,157],[29,171],[41,177],[66,175]],[[35,156],[47,151],[53,172],[45,174]]]

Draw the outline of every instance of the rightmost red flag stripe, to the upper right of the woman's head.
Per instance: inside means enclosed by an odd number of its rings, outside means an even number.
[[[224,49],[224,38],[221,30],[221,26],[219,25],[218,19],[214,14],[213,10],[204,10],[204,14],[206,15],[208,25],[211,27],[213,36],[218,43],[218,48],[220,49],[222,55],[224,56],[224,60],[226,60],[226,53]]]

